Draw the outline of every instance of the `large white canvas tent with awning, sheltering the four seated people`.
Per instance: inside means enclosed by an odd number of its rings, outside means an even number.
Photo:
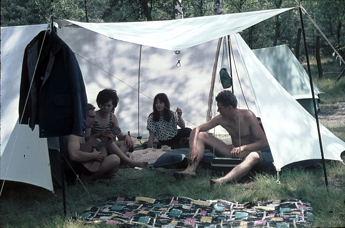
[[[160,92],[168,95],[172,110],[177,107],[183,109],[188,127],[204,123],[217,39],[240,32],[290,9],[164,22],[81,23],[60,20],[60,24],[74,25],[58,29],[57,33],[77,55],[89,103],[96,105],[96,96],[100,90],[116,89],[120,97],[116,115],[122,131],[131,131],[132,135],[140,134],[145,137],[148,135],[146,120],[152,111],[151,99]],[[1,172],[1,179],[6,180],[18,181],[18,175],[23,175],[16,172],[17,161],[23,157],[23,153],[47,153],[46,146],[37,143],[41,140],[38,133],[37,142],[29,141],[26,137],[18,141],[14,137],[18,123],[22,55],[25,46],[32,39],[22,38],[27,38],[28,34],[33,38],[38,32],[32,32],[29,27],[1,28],[1,171],[8,170],[6,176]],[[13,44],[14,38],[17,42]],[[12,52],[13,46],[21,49],[22,53]],[[316,123],[311,115],[270,75],[239,34],[231,35],[231,46],[235,56],[231,63],[239,78],[234,81],[239,106],[247,108],[248,105],[262,119],[276,168],[298,160],[321,158]],[[180,68],[176,67],[178,56],[174,50],[181,51]],[[234,74],[234,77],[237,78],[237,75]],[[215,94],[222,90],[221,84],[216,83]],[[19,128],[28,127],[20,125]],[[27,134],[30,133],[36,134]],[[225,132],[217,128],[216,133]],[[341,160],[340,153],[344,150],[345,143],[323,126],[322,137],[325,158]],[[28,147],[30,151],[23,152],[11,148],[11,143],[33,147]],[[295,156],[302,153],[303,156]],[[35,163],[25,165],[39,166]],[[36,175],[30,178],[40,177]],[[33,182],[29,180],[29,176],[23,179],[27,179],[26,183]],[[49,189],[43,183],[37,185]]]

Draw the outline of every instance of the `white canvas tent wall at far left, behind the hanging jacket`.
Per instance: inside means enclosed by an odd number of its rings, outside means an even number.
[[[1,167],[2,180],[53,190],[47,139],[38,128],[19,125],[19,87],[26,45],[46,24],[1,28]]]

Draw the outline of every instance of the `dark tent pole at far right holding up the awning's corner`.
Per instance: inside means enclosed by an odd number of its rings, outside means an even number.
[[[313,79],[312,79],[312,72],[311,72],[311,69],[310,69],[308,49],[307,49],[307,41],[306,41],[306,38],[305,38],[304,22],[303,22],[303,15],[302,15],[302,8],[301,7],[299,7],[299,15],[300,15],[302,31],[303,31],[305,56],[306,56],[307,65],[308,65],[308,74],[309,74],[310,88],[312,90],[312,96],[313,96],[315,119],[316,119],[316,125],[317,125],[317,132],[318,132],[318,136],[319,136],[320,151],[321,151],[321,157],[322,157],[322,165],[323,165],[323,170],[324,170],[324,175],[325,175],[325,184],[326,184],[326,187],[328,187],[328,179],[327,179],[327,172],[326,172],[326,165],[325,165],[325,156],[324,156],[324,153],[323,153],[322,139],[321,139],[321,133],[320,133],[320,126],[319,126],[319,118],[318,118],[318,115],[317,115],[317,107],[316,107],[316,100],[315,100],[315,94],[314,94],[314,85],[313,85]],[[327,188],[327,191],[328,191],[328,188]]]

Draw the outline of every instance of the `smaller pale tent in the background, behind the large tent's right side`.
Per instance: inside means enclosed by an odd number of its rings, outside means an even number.
[[[279,84],[310,114],[315,115],[309,76],[288,45],[256,49],[253,52]],[[324,92],[315,83],[313,86],[315,99],[319,99],[319,94]],[[316,107],[319,108],[318,102]]]

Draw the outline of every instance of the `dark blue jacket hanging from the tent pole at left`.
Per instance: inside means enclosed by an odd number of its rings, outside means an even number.
[[[32,130],[39,124],[40,138],[70,134],[84,136],[86,116],[87,96],[75,54],[55,32],[41,31],[27,45],[24,53],[20,124],[29,124]]]

